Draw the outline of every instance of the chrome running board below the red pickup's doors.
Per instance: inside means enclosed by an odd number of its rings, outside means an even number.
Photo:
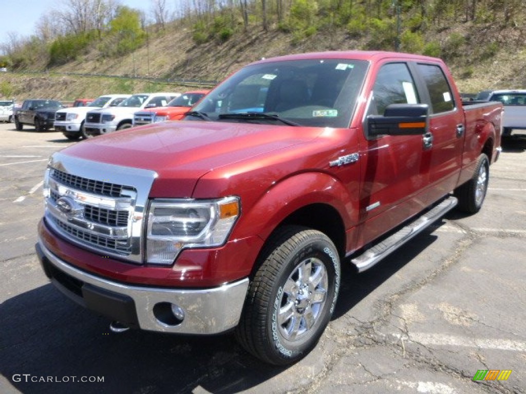
[[[437,221],[452,210],[458,203],[458,200],[454,196],[449,196],[446,200],[443,200],[438,205],[434,206],[430,211],[418,216],[411,223],[403,226],[396,233],[390,235],[380,243],[371,246],[361,255],[353,258],[351,263],[356,266],[358,272],[365,271],[371,268],[373,265],[378,263],[382,258],[387,257],[390,253],[396,251],[404,243],[412,239],[415,235],[419,234],[422,230],[426,229],[433,222]]]

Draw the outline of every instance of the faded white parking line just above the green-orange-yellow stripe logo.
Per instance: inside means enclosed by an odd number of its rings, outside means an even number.
[[[400,334],[392,334],[400,340]],[[447,334],[410,333],[404,339],[425,346],[461,346],[479,349],[526,351],[526,341],[498,338],[470,338]]]

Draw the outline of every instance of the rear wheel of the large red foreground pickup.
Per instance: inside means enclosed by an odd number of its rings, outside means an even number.
[[[488,156],[481,153],[471,179],[455,189],[454,194],[459,200],[458,209],[474,214],[480,211],[488,192],[490,178],[490,162]]]

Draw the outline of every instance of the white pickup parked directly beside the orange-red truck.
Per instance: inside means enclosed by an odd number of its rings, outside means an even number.
[[[140,109],[164,107],[180,93],[138,93],[128,97],[117,107],[102,108],[86,114],[84,130],[89,136],[99,136],[133,125],[134,113]]]

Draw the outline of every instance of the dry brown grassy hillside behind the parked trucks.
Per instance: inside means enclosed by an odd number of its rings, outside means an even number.
[[[523,67],[526,64],[523,38],[526,28],[459,24],[431,29],[428,36],[440,42],[442,57],[450,66],[461,91],[526,88],[526,68]],[[452,37],[457,41],[452,41]],[[190,29],[171,26],[163,35],[150,34],[145,45],[124,57],[103,58],[93,49],[62,66],[46,69],[44,61],[42,64],[37,61],[31,73],[0,73],[0,98],[73,100],[109,92],[184,91],[195,85],[167,81],[219,81],[262,57],[362,49],[363,46],[360,40],[350,38],[343,29],[318,32],[297,40],[280,30],[264,32],[261,28],[236,33],[222,44],[211,41],[197,45]],[[121,78],[85,77],[71,73]]]

